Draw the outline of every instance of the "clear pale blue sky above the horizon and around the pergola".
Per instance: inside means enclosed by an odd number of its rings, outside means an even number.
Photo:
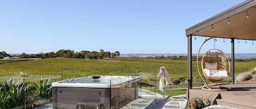
[[[47,53],[103,49],[128,53],[187,53],[185,29],[243,0],[0,1],[0,51]],[[204,37],[193,40],[197,53]],[[194,39],[194,37],[193,37]],[[213,41],[212,41],[213,42]],[[256,42],[255,42],[256,44]],[[236,53],[256,53],[236,40]],[[216,47],[230,53],[230,40]],[[210,42],[205,48],[213,48]]]

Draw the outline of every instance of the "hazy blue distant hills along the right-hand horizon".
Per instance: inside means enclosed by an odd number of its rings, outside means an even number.
[[[156,57],[156,56],[187,56],[187,54],[120,54],[121,57]],[[197,54],[192,54],[192,55],[197,55]],[[203,54],[200,54],[202,56]],[[228,57],[231,57],[231,54],[227,54]],[[256,53],[236,53],[235,54],[235,59],[251,59],[251,58],[256,58]]]

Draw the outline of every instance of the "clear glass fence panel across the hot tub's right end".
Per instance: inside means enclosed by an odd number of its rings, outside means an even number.
[[[132,70],[118,73],[110,80],[111,108],[157,108],[158,81],[156,69]]]

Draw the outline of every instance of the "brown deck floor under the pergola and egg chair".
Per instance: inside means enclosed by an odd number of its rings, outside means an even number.
[[[231,90],[206,91],[200,87],[193,87],[189,90],[190,99],[193,97],[210,97],[210,100],[213,100],[220,94],[221,98],[216,99],[218,105],[245,109],[256,108],[256,81],[220,86],[229,87]]]

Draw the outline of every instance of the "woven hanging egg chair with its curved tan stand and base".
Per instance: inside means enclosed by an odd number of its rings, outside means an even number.
[[[230,90],[230,88],[228,87],[209,86],[205,80],[207,79],[212,82],[218,82],[228,77],[228,73],[230,72],[230,69],[231,69],[230,61],[228,56],[222,50],[215,49],[215,48],[207,50],[201,60],[201,70],[199,68],[200,50],[207,41],[213,38],[214,37],[210,37],[209,39],[205,40],[201,44],[197,54],[198,73],[200,75],[200,78],[204,81],[204,86],[202,87],[202,89],[205,89],[208,91],[228,91]],[[228,63],[229,71],[226,70],[227,63]],[[201,71],[203,72],[204,77],[201,74]]]

